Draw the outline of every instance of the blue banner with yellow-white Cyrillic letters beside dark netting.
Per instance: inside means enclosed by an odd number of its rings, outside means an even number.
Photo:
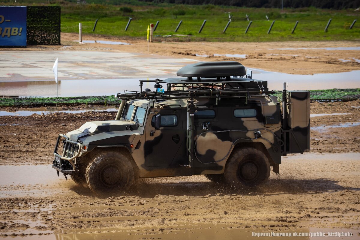
[[[0,46],[26,46],[26,6],[0,6]]]

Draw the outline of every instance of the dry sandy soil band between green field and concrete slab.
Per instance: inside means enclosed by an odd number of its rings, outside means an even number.
[[[74,42],[75,40],[75,42]],[[83,40],[122,41],[131,45],[78,44],[78,35],[61,33],[61,43],[65,46],[28,46],[29,51],[42,50],[102,50],[148,53],[145,40],[85,35]],[[221,46],[220,46],[221,44]],[[162,38],[150,43],[149,53],[192,58],[201,61],[238,61],[246,67],[291,74],[336,73],[360,69],[359,51],[309,49],[323,47],[360,47],[360,41],[337,42],[174,42]],[[279,50],[278,48],[305,48]],[[15,50],[15,49],[1,49]],[[209,55],[197,57],[195,54]],[[246,58],[214,56],[213,54],[246,54]],[[342,60],[341,60],[342,59]],[[343,62],[343,61],[346,62]]]

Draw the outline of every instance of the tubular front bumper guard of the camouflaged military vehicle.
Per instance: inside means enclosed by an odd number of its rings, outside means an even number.
[[[64,139],[64,149],[62,155],[58,154],[58,148],[61,139]],[[54,149],[54,161],[52,167],[59,172],[62,173],[69,172],[67,174],[71,174],[76,171],[76,166],[73,160],[76,159],[80,155],[80,153],[81,153],[81,144],[79,142],[74,142],[69,140],[69,138],[66,135],[60,133]],[[70,167],[69,167],[69,163],[71,164]],[[72,169],[70,169],[71,167]]]

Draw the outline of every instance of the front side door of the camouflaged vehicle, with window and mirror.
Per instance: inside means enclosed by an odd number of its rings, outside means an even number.
[[[156,111],[161,115],[161,127],[151,136],[155,114],[150,114],[149,117],[153,119],[145,129],[146,167],[170,166],[180,146],[184,145],[181,110],[157,109]],[[150,109],[150,112],[155,112],[155,110]]]

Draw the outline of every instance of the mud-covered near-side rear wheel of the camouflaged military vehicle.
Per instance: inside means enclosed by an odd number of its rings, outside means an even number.
[[[225,166],[224,178],[235,188],[254,187],[266,182],[270,164],[266,155],[256,148],[240,148],[231,153]]]

